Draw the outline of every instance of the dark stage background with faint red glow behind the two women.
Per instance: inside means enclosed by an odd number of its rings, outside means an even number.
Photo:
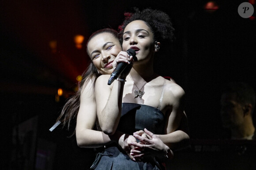
[[[237,12],[245,1],[216,0],[218,9],[209,11],[207,0],[1,0],[0,168],[90,166],[94,149],[78,148],[66,128],[49,128],[87,68],[88,36],[105,27],[117,29],[131,7],[152,7],[171,16],[177,40],[158,59],[156,71],[184,88],[191,138],[221,138],[222,85],[245,81],[256,89],[256,19]],[[75,47],[75,35],[84,36],[81,49]]]

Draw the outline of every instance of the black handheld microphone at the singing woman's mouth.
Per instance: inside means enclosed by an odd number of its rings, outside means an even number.
[[[136,52],[133,49],[128,49],[126,51],[129,56],[136,56]],[[120,62],[117,64],[117,67],[114,69],[114,71],[111,73],[111,76],[108,81],[108,85],[112,84],[114,80],[117,79],[117,77],[124,71],[124,69],[127,67],[127,63],[125,62]]]

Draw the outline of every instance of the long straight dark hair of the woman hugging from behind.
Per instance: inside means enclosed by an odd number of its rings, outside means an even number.
[[[100,30],[94,32],[89,37],[89,39],[87,41],[87,45],[88,45],[89,41],[94,36],[101,34],[101,33],[111,33],[114,37],[117,38],[117,40],[119,40],[117,31],[115,31],[114,29],[105,28],[105,29],[100,29]],[[87,54],[88,54],[88,49],[87,49]],[[74,119],[76,122],[76,117],[77,117],[79,107],[80,107],[80,96],[81,96],[81,91],[83,90],[83,87],[87,86],[88,82],[91,80],[93,82],[93,91],[94,91],[95,82],[100,75],[101,74],[98,73],[98,70],[96,69],[94,64],[92,62],[90,62],[89,67],[82,74],[83,79],[78,83],[77,92],[75,93],[75,95],[68,98],[68,100],[65,103],[65,105],[63,106],[60,116],[57,118],[56,122],[60,121],[62,123],[63,127],[67,125],[68,130],[70,129],[72,120]],[[73,131],[71,136],[73,136],[74,134],[75,134],[75,130]]]

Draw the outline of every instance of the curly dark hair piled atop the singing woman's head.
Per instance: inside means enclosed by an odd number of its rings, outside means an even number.
[[[168,14],[151,8],[142,11],[139,11],[138,8],[134,8],[134,10],[134,13],[124,13],[124,22],[118,27],[121,42],[123,41],[125,27],[135,20],[142,20],[149,26],[154,34],[154,41],[157,40],[160,43],[162,41],[172,42],[175,39],[174,28]]]

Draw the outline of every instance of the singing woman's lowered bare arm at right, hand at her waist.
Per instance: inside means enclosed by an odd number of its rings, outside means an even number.
[[[181,87],[174,88],[171,107],[169,114],[167,113],[168,121],[166,123],[166,134],[152,134],[145,129],[146,134],[152,137],[142,137],[143,132],[139,131],[134,134],[141,143],[134,144],[139,148],[145,147],[143,151],[134,149],[135,158],[145,155],[163,155],[168,150],[168,154],[172,155],[172,150],[178,150],[189,145],[188,123],[184,113],[184,91]],[[144,146],[143,146],[144,144]],[[146,144],[146,145],[145,145]],[[132,144],[133,145],[133,144]],[[146,149],[147,148],[147,149]],[[138,151],[139,150],[139,151]],[[145,152],[146,151],[146,152]],[[144,153],[143,153],[144,152]]]

